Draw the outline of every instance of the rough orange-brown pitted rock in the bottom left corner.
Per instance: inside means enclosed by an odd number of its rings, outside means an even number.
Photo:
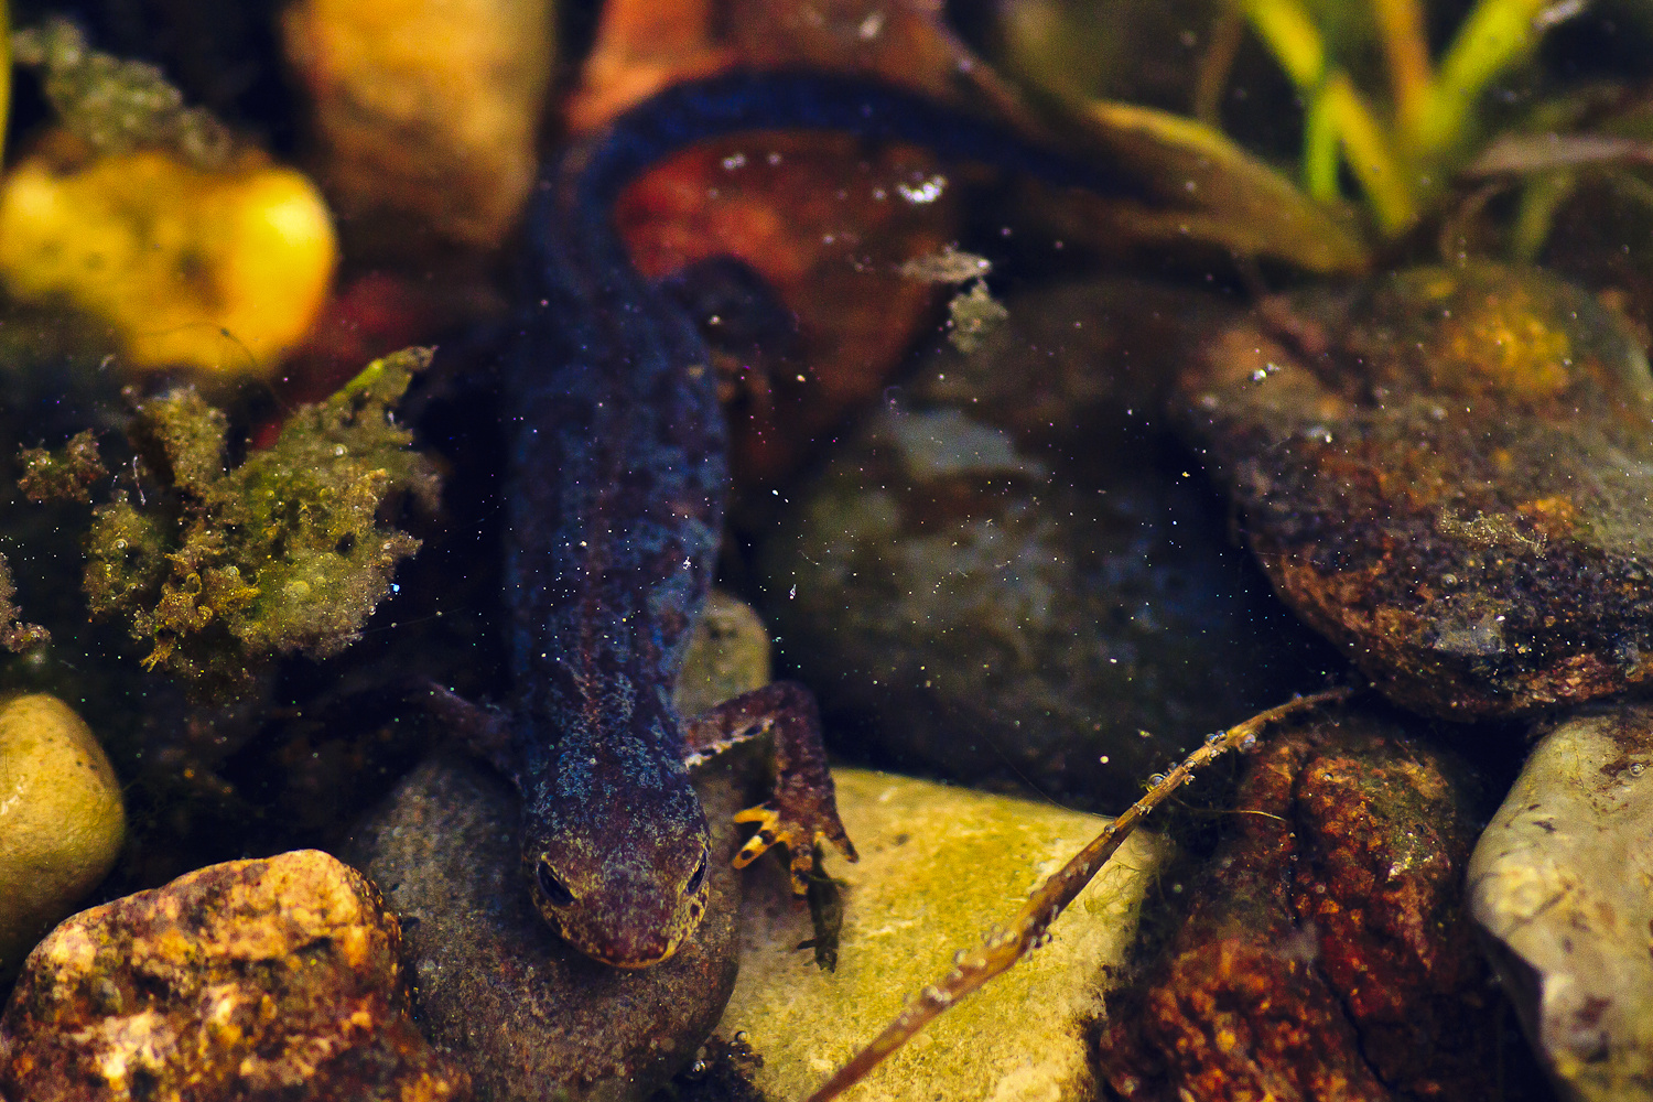
[[[104,1102],[471,1097],[405,1013],[400,929],[319,851],[215,864],[63,922],[0,1018],[0,1092]]]

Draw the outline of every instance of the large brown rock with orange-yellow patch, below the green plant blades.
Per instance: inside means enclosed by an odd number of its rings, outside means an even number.
[[[1420,712],[1653,679],[1653,378],[1618,319],[1493,264],[1270,317],[1210,337],[1177,405],[1288,603]]]

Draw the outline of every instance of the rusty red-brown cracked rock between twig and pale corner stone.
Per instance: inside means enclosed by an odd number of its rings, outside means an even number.
[[[1165,958],[1109,1006],[1112,1087],[1494,1097],[1498,1008],[1460,902],[1476,823],[1441,755],[1346,710],[1265,748],[1238,811]]]

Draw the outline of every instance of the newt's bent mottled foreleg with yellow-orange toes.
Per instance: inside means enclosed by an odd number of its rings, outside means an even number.
[[[734,816],[736,823],[757,823],[757,834],[736,854],[734,867],[744,869],[770,846],[784,844],[792,864],[792,891],[802,895],[815,864],[815,843],[830,841],[845,857],[856,859],[838,819],[820,709],[808,689],[795,681],[777,681],[742,692],[684,720],[683,735],[691,767],[749,739],[774,735],[775,793]]]

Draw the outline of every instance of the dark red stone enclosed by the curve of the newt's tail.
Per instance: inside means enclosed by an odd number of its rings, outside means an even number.
[[[696,321],[721,316],[707,329],[742,479],[785,481],[810,441],[878,395],[931,322],[936,287],[898,269],[957,233],[960,188],[926,203],[899,195],[947,178],[937,173],[911,147],[868,154],[846,135],[742,135],[671,157],[615,203],[638,271],[686,278]],[[726,258],[762,276],[770,309],[731,317],[731,296],[699,286]],[[696,302],[706,297],[724,306]],[[741,339],[754,322],[757,340]]]

